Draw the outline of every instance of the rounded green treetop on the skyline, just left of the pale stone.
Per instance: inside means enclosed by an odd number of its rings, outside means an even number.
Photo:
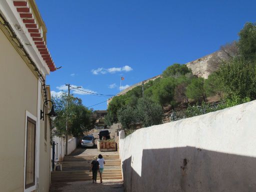
[[[186,73],[191,72],[191,69],[187,68],[185,64],[174,63],[168,66],[163,72],[163,77],[178,77]]]

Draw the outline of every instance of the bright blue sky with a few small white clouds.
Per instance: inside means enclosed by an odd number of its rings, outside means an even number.
[[[255,22],[255,0],[36,0],[56,66],[47,76],[55,93],[66,83],[116,94],[238,38]],[[72,92],[85,106],[107,97]],[[106,102],[93,106],[106,109]]]

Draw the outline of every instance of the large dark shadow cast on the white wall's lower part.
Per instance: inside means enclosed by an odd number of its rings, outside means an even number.
[[[195,147],[144,149],[141,176],[123,161],[125,191],[256,191],[256,158]]]

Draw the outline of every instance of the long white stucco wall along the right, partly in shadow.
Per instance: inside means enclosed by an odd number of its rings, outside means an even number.
[[[125,191],[256,191],[256,100],[122,137]]]

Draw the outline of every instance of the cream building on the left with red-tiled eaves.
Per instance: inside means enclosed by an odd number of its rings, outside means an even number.
[[[49,190],[45,77],[54,70],[34,0],[0,0],[0,191]]]

